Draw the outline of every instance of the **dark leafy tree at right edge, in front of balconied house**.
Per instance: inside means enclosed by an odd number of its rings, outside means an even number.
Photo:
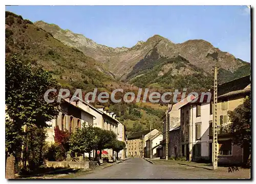
[[[250,98],[246,98],[244,103],[238,106],[233,111],[228,111],[230,118],[231,133],[233,135],[233,144],[241,147],[250,146],[251,142],[251,111],[250,111]]]

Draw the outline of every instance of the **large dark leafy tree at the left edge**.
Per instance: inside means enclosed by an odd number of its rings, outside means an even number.
[[[53,103],[44,100],[45,92],[50,88],[59,88],[52,75],[41,67],[33,68],[14,55],[6,60],[6,158],[21,145],[17,140],[23,136],[24,125],[43,128],[47,121],[57,117],[59,106],[57,93],[50,93]],[[11,127],[11,128],[10,128]]]

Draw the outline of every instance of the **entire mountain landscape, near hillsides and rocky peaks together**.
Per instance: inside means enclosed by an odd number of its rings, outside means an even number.
[[[81,88],[83,92],[111,92],[121,88],[136,91],[174,89],[204,91],[212,86],[211,69],[218,63],[219,82],[250,73],[250,64],[222,52],[204,40],[175,44],[155,35],[131,48],[112,48],[55,24],[31,22],[6,12],[6,59],[14,53],[32,66],[50,71],[63,88]],[[122,96],[121,96],[122,97]],[[161,129],[166,106],[156,103],[95,102],[115,112],[127,131]]]

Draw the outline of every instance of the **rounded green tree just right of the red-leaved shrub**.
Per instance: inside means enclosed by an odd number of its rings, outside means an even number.
[[[73,152],[83,154],[84,152],[89,153],[89,160],[91,159],[91,151],[97,143],[97,137],[95,136],[94,128],[86,124],[82,125],[82,128],[76,128],[74,134],[71,135],[70,148]]]

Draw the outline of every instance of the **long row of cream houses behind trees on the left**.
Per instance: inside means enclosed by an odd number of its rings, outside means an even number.
[[[116,135],[117,139],[125,141],[126,132],[125,126],[116,119],[116,115],[112,112],[105,111],[103,108],[95,108],[90,103],[77,98],[74,101],[70,101],[70,98],[65,98],[63,102],[60,103],[60,113],[56,119],[48,122],[52,125],[48,128],[48,142],[54,142],[54,128],[58,126],[61,130],[67,129],[70,133],[74,132],[75,128],[81,128],[83,123],[87,125],[93,125],[94,127],[99,127],[106,130],[112,130]],[[118,125],[119,130],[118,132]],[[114,152],[112,149],[104,149],[104,156],[112,157]],[[120,151],[121,157],[125,157],[125,150]],[[92,156],[95,155],[95,151],[92,151]],[[89,153],[86,153],[89,156]]]

